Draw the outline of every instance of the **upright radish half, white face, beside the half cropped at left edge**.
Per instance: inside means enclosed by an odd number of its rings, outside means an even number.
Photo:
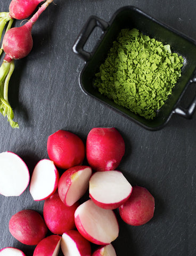
[[[58,188],[59,172],[53,161],[40,160],[32,172],[30,194],[35,201],[50,197]]]

